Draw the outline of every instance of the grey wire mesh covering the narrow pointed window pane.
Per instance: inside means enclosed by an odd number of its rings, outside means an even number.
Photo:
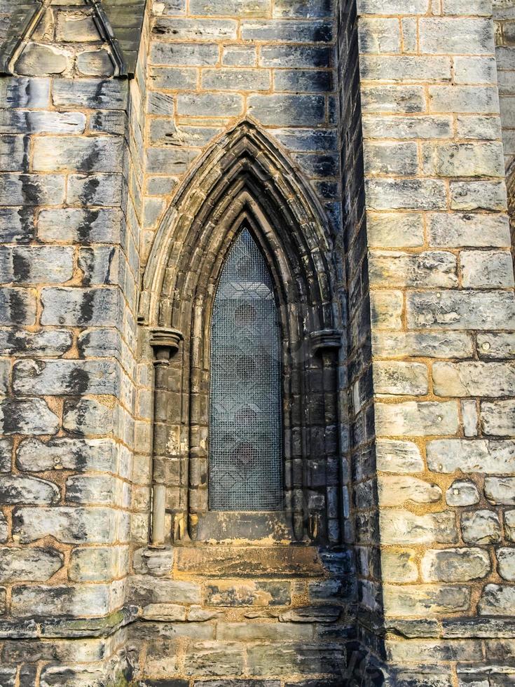
[[[212,510],[282,507],[280,359],[272,279],[244,229],[221,273],[212,317]]]

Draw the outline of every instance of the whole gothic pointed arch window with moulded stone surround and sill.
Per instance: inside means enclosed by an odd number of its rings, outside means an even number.
[[[154,544],[341,540],[335,259],[313,189],[253,123],[174,196],[140,303],[156,367]]]

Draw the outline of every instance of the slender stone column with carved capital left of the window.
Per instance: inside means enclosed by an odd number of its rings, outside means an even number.
[[[166,451],[166,431],[163,428],[163,408],[167,407],[168,367],[170,358],[184,339],[181,332],[169,327],[155,327],[150,332],[154,365],[154,407],[153,407],[153,449],[152,449],[152,526],[151,547],[165,545],[166,484],[158,479],[154,456],[163,456]],[[163,431],[160,431],[163,430]]]

